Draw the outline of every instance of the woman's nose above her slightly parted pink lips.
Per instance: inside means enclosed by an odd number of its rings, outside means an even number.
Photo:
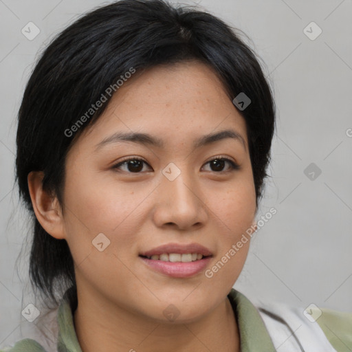
[[[208,220],[208,207],[197,180],[182,171],[173,181],[162,176],[157,188],[153,220],[158,227],[179,230],[201,228]]]

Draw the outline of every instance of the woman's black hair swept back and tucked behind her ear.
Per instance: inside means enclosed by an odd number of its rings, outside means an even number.
[[[67,242],[47,234],[36,219],[28,173],[43,171],[43,188],[62,204],[69,148],[106,109],[111,98],[107,87],[113,87],[131,67],[143,72],[157,65],[198,60],[214,70],[231,99],[241,92],[250,98],[250,105],[239,112],[247,126],[258,208],[270,162],[275,105],[258,57],[239,38],[240,33],[194,6],[122,0],[88,12],[45,48],[25,87],[17,129],[16,180],[33,221],[33,288],[57,304],[56,289],[63,294],[68,287],[76,287],[76,280]],[[81,116],[87,117],[104,93],[107,102],[74,135],[65,133]]]

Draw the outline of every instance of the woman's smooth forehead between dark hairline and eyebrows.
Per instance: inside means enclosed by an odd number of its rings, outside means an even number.
[[[247,144],[245,120],[217,74],[206,64],[188,61],[159,65],[126,80],[78,141],[95,144],[124,131],[186,143],[196,139],[195,133],[199,137],[228,128],[241,133]]]

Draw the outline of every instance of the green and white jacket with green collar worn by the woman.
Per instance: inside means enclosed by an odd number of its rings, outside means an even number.
[[[257,307],[235,289],[228,299],[239,327],[241,352],[352,351],[352,314],[318,307],[304,311],[278,304]],[[82,352],[74,329],[75,309],[65,292],[56,316],[58,352]],[[0,352],[47,351],[38,341],[25,338]]]

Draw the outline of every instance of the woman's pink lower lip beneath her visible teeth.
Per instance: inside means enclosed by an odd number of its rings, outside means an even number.
[[[202,272],[210,262],[211,256],[207,256],[199,261],[191,261],[189,263],[155,261],[153,259],[146,259],[142,256],[140,256],[140,259],[156,272],[160,272],[173,278],[188,278]]]

